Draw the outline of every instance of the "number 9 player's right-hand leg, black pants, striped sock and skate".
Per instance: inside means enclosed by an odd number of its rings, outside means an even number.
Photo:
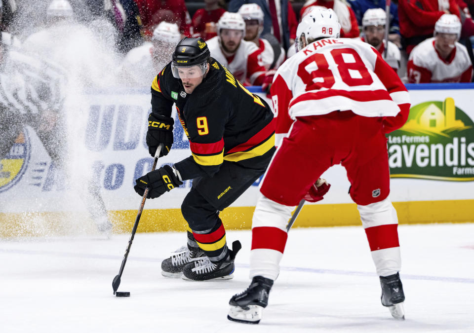
[[[219,212],[232,204],[265,172],[272,153],[269,151],[267,156],[258,157],[254,168],[224,161],[213,177],[193,181],[193,188],[184,199],[181,211],[196,244],[206,257],[185,265],[184,278],[202,281],[233,277],[234,259],[240,243],[234,242],[232,250],[227,247]]]

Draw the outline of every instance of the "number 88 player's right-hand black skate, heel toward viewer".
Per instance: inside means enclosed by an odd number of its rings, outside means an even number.
[[[400,275],[398,273],[389,276],[380,277],[380,285],[382,286],[382,305],[387,306],[390,313],[395,319],[404,320],[405,310],[403,309],[403,301],[405,294],[401,285]]]

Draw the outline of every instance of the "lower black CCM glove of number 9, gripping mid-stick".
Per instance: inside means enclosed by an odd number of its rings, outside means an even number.
[[[173,172],[169,165],[165,165],[158,170],[149,172],[143,177],[135,180],[137,185],[133,186],[135,192],[143,196],[145,187],[150,186],[147,198],[158,198],[164,192],[169,192],[171,189],[183,184]]]

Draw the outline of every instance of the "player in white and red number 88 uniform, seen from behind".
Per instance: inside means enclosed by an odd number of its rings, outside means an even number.
[[[287,113],[294,121],[262,181],[252,221],[252,282],[231,298],[230,320],[260,321],[279,273],[291,212],[321,174],[339,163],[347,170],[380,276],[382,304],[404,318],[385,134],[405,123],[409,96],[376,49],[338,38],[339,31],[332,9],[306,15],[298,26],[299,52],[276,72],[271,92],[277,122]]]

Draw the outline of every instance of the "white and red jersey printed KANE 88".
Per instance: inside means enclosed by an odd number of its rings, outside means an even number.
[[[390,132],[403,125],[398,118],[408,115],[410,103],[405,86],[380,53],[349,38],[320,39],[286,60],[275,74],[271,94],[277,134],[287,133],[298,116],[347,110],[386,117]]]

